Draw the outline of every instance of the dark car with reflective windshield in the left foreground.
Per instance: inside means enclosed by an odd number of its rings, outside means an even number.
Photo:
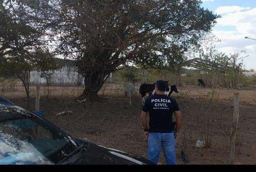
[[[39,115],[0,97],[0,164],[153,164],[73,138]]]

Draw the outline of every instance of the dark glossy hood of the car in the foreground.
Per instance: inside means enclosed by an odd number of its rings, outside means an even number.
[[[83,150],[72,164],[147,165],[154,163],[141,156],[89,143],[88,148]]]

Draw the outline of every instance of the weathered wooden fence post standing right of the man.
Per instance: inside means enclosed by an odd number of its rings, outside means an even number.
[[[230,163],[235,163],[235,136],[238,127],[239,118],[239,92],[234,92],[234,112],[232,120],[232,129],[230,134]]]

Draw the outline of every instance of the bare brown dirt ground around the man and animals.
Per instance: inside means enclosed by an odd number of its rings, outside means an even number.
[[[30,110],[34,110],[35,90],[31,86]],[[77,102],[82,87],[51,86],[50,100],[46,100],[47,87],[41,87],[40,107],[46,119],[68,134],[93,143],[147,157],[147,141],[140,123],[141,100],[134,95],[132,105],[124,99],[122,88],[105,84],[98,102]],[[237,164],[256,164],[256,90],[203,89],[196,86],[178,87],[173,93],[183,116],[183,126],[176,139],[178,164],[226,164],[229,160],[229,135],[232,126],[233,92],[240,92],[239,130],[236,140]],[[27,108],[22,86],[5,89],[2,95],[18,106]],[[56,115],[64,110],[73,113]],[[208,147],[196,148],[197,140],[206,140]],[[165,163],[161,152],[161,163]]]

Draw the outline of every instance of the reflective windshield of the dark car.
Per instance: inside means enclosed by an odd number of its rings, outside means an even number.
[[[0,108],[0,164],[56,164],[77,146],[51,123],[24,109]]]

